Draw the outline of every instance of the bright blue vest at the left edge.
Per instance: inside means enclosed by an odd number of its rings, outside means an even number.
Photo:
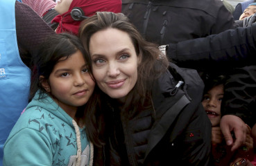
[[[15,2],[0,0],[0,165],[3,144],[28,104],[31,77],[31,71],[19,57]]]

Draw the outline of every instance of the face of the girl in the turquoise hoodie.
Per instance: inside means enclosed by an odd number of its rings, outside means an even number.
[[[94,81],[89,75],[85,59],[78,50],[68,59],[60,59],[51,72],[49,84],[44,88],[53,99],[74,118],[77,107],[85,104],[94,91]]]

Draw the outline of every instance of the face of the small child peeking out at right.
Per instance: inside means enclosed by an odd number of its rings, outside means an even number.
[[[208,118],[212,122],[212,127],[219,126],[221,121],[221,100],[223,98],[223,84],[214,86],[210,91],[203,95],[203,107]]]

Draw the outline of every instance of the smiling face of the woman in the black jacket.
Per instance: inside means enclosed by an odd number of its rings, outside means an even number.
[[[115,28],[100,30],[89,42],[92,73],[101,91],[123,100],[137,82],[139,58],[129,35]]]

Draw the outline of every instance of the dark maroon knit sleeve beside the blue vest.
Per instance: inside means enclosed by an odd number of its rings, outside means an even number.
[[[24,64],[31,67],[37,47],[55,32],[25,3],[15,3],[15,19],[19,55]]]

